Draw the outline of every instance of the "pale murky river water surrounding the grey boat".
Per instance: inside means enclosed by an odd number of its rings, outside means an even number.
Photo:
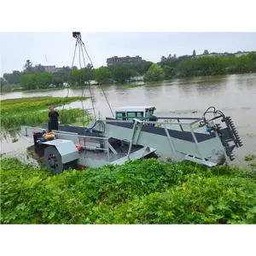
[[[139,83],[138,83],[139,84]],[[96,115],[111,117],[108,103],[98,86],[91,87]],[[256,153],[256,73],[201,77],[195,79],[172,79],[160,83],[127,88],[110,85],[104,87],[112,108],[121,106],[154,105],[159,116],[201,116],[208,107],[214,106],[230,115],[239,131],[244,146],[235,149],[236,164],[241,165],[246,154]],[[34,93],[14,92],[1,96],[1,100],[32,96],[67,96],[67,90],[40,91]],[[82,96],[82,90],[69,90],[69,96]],[[90,91],[84,89],[84,96]],[[73,102],[67,108],[82,108],[81,102]],[[84,108],[91,109],[89,100]],[[196,111],[197,113],[191,113]],[[176,113],[173,113],[176,112]],[[190,112],[190,113],[189,113]],[[19,137],[10,142],[10,135],[1,138],[1,153],[20,154],[32,140]]]

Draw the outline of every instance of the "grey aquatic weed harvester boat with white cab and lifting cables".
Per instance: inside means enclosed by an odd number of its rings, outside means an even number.
[[[83,55],[80,33],[73,37]],[[87,54],[85,47],[84,51]],[[234,148],[242,146],[232,119],[213,107],[196,118],[155,116],[154,106],[116,108],[113,113],[108,106],[113,118],[97,120],[93,106],[95,120],[88,127],[60,125],[59,131],[48,133],[47,124],[42,124],[41,128],[21,126],[21,133],[33,137],[38,159],[55,173],[148,157],[218,166],[234,160]],[[209,113],[212,118],[207,118]]]

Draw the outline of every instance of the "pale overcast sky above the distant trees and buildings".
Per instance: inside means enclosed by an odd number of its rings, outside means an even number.
[[[141,55],[147,61],[160,61],[162,55],[190,55],[195,49],[209,52],[256,50],[255,32],[95,32],[81,33],[95,67],[106,65],[113,55]],[[75,38],[72,32],[0,32],[0,75],[22,70],[26,60],[33,65],[71,66]],[[85,59],[88,61],[88,58]],[[77,51],[74,65],[79,67]]]

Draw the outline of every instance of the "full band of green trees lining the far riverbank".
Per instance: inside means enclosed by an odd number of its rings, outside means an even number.
[[[236,57],[204,55],[162,56],[160,62],[142,61],[137,64],[114,65],[110,67],[93,68],[90,64],[82,69],[78,67],[62,67],[58,73],[45,73],[44,67],[27,60],[23,72],[4,73],[1,78],[1,90],[9,89],[9,84],[20,84],[23,90],[38,90],[49,88],[49,84],[62,87],[64,83],[71,86],[90,84],[95,80],[98,84],[119,83],[130,81],[132,77],[144,75],[146,81],[160,79],[189,78],[195,76],[211,76],[227,73],[256,72],[256,52]],[[154,65],[152,65],[154,64]]]

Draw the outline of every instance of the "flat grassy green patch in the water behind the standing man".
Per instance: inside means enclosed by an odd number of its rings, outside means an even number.
[[[48,108],[61,106],[75,101],[85,100],[86,97],[30,97],[20,99],[9,99],[1,101],[1,128],[15,129],[20,125],[40,125],[48,122]],[[88,113],[82,109],[61,109],[62,124],[75,123],[79,118],[87,121],[90,119]],[[86,120],[85,120],[86,119]]]

